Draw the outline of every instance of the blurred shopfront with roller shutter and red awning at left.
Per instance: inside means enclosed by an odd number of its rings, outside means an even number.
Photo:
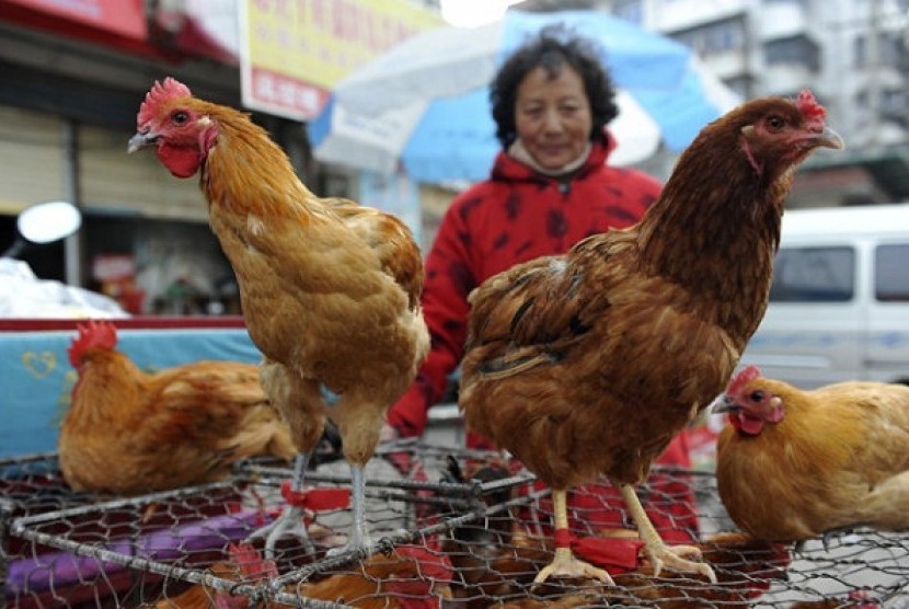
[[[0,248],[13,242],[28,205],[72,202],[83,214],[79,233],[20,257],[41,278],[105,291],[133,312],[238,312],[197,179],[174,179],[153,154],[126,153],[154,80],[171,76],[200,97],[242,107],[237,49],[196,21],[192,4],[0,1]],[[417,4],[438,12],[434,0]],[[238,0],[203,9],[220,33],[237,27]],[[252,116],[312,191],[357,194],[355,181],[313,161],[303,124]]]

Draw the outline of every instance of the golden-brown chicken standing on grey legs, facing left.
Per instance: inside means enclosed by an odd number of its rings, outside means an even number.
[[[419,309],[423,263],[398,218],[307,189],[287,156],[249,116],[196,99],[172,78],[156,82],[138,114],[129,150],[153,147],[177,177],[199,173],[209,222],[240,285],[243,317],[264,354],[261,378],[303,453],[295,489],[337,394],[337,423],[350,463],[354,530],[364,550],[363,470],[388,407],[413,380],[428,348]],[[307,542],[300,506],[285,527]]]

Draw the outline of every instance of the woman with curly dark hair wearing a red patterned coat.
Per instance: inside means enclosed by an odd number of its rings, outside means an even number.
[[[606,128],[618,114],[613,97],[592,46],[557,26],[541,31],[496,73],[491,101],[503,150],[490,179],[460,194],[439,226],[423,291],[433,346],[413,386],[389,411],[387,439],[423,433],[429,407],[463,355],[467,298],[474,287],[519,262],[632,225],[659,195],[660,184],[649,175],[607,164],[615,147]],[[490,448],[472,434],[468,446]],[[683,437],[661,462],[690,466]],[[693,532],[689,510],[676,517]]]

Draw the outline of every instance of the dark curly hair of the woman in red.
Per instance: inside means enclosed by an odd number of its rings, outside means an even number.
[[[504,149],[518,137],[515,101],[520,82],[534,68],[545,68],[551,77],[555,77],[565,65],[584,81],[594,117],[590,140],[602,137],[603,127],[619,114],[614,102],[615,90],[594,44],[578,37],[564,25],[556,24],[542,28],[530,42],[517,49],[493,78],[490,101],[496,123],[495,135]]]

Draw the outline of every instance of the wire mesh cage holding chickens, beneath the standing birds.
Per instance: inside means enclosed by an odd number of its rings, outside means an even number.
[[[309,489],[349,486],[323,458]],[[576,540],[607,549],[614,585],[549,579],[549,491],[494,452],[403,441],[367,470],[377,551],[332,554],[347,508],[306,513],[315,551],[253,531],[276,517],[291,469],[250,461],[223,482],[137,497],[70,491],[56,457],[0,461],[0,581],[9,607],[902,607],[909,535],[859,529],[795,549],[735,532],[709,472],[655,468],[640,494],[669,543],[694,543],[717,583],[655,576],[608,483],[576,489]]]

